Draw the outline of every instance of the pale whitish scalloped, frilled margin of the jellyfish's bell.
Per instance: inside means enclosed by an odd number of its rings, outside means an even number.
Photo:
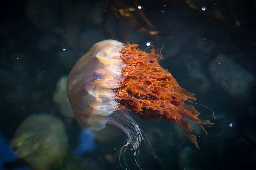
[[[111,43],[101,47],[101,50],[95,54],[95,57],[103,63],[103,67],[96,70],[99,78],[94,82],[86,85],[86,90],[92,95],[95,100],[89,103],[93,107],[94,114],[107,116],[115,111],[118,107],[117,93],[112,89],[118,88],[122,80],[122,70],[126,66],[124,61],[120,59],[121,53],[119,51],[123,48],[121,42],[112,40]],[[97,104],[95,104],[97,103]]]

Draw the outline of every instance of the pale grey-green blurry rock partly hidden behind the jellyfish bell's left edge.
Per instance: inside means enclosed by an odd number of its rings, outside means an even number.
[[[53,100],[59,104],[59,110],[63,116],[74,118],[72,107],[67,96],[67,79],[68,76],[62,76],[60,78],[53,95]]]

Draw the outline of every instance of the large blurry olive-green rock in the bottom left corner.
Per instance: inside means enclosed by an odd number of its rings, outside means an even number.
[[[35,170],[57,168],[68,147],[65,125],[52,115],[31,115],[18,127],[11,146]]]

